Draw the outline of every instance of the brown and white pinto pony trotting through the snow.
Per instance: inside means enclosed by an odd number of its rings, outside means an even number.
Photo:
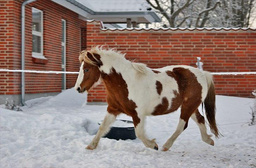
[[[204,117],[198,111],[198,106],[204,102],[211,132],[218,137],[212,75],[185,65],[151,69],[145,64],[126,60],[124,55],[114,49],[103,49],[102,46],[80,53],[81,67],[75,89],[79,93],[88,92],[102,80],[107,88],[108,102],[107,114],[100,129],[86,149],[95,149],[100,138],[108,133],[116,116],[124,113],[132,117],[136,136],[144,145],[158,150],[155,139],[149,140],[145,134],[146,116],[168,114],[179,107],[179,124],[162,151],[167,151],[173,145],[187,128],[190,117],[197,123],[202,140],[214,145],[211,135],[206,133]]]

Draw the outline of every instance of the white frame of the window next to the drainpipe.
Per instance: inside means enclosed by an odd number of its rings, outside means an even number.
[[[32,35],[36,35],[36,36],[41,37],[41,53],[32,52],[32,57],[46,59],[43,55],[43,53],[44,53],[44,50],[43,50],[43,48],[44,48],[43,47],[44,46],[44,44],[43,44],[43,11],[32,7],[32,11],[33,11],[33,9],[41,13],[41,32],[34,31],[33,28],[32,28]],[[32,15],[33,15],[33,13],[32,13]],[[33,45],[33,42],[32,42],[32,45]]]

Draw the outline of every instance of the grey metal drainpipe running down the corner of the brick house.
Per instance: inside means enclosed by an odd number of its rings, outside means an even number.
[[[27,0],[21,5],[21,69],[25,70],[25,6],[37,0]],[[25,72],[21,72],[21,105],[26,105],[25,97]]]

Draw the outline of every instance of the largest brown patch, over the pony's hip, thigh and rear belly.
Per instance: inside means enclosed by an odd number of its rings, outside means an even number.
[[[168,114],[174,112],[182,105],[180,118],[186,122],[185,129],[188,119],[201,103],[202,86],[198,83],[196,75],[188,69],[177,67],[173,68],[172,71],[167,70],[166,74],[176,80],[179,92],[173,90],[175,96],[172,99],[170,108],[168,106],[166,108],[165,105],[168,99],[162,98],[162,102],[155,107],[152,115]],[[184,101],[184,98],[187,101]]]

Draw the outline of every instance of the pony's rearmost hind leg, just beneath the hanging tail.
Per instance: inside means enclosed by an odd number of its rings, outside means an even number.
[[[198,109],[196,109],[194,111],[194,113],[191,115],[191,119],[194,120],[194,122],[197,123],[197,126],[200,129],[202,140],[204,142],[208,143],[209,145],[214,146],[214,141],[211,139],[212,135],[208,135],[207,132],[206,132],[204,116],[202,116],[199,113]]]

